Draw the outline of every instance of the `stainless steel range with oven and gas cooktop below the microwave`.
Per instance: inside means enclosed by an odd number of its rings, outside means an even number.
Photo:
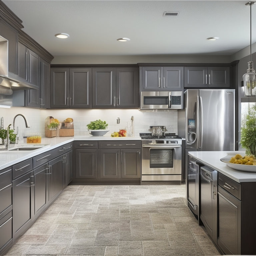
[[[175,133],[140,133],[142,181],[181,181],[182,138]]]

